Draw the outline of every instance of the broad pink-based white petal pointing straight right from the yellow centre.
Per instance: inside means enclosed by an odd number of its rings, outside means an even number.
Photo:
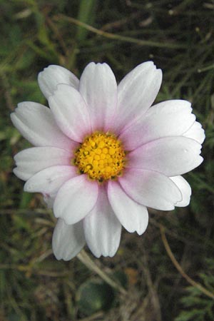
[[[160,138],[129,153],[127,166],[181,175],[203,162],[200,148],[200,143],[183,136]]]

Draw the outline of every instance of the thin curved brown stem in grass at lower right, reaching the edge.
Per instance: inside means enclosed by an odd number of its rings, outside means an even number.
[[[172,261],[173,265],[176,267],[178,272],[180,272],[180,274],[185,278],[185,280],[187,280],[188,283],[190,283],[190,285],[193,285],[193,287],[197,287],[197,289],[200,290],[201,292],[203,292],[203,294],[207,295],[208,297],[211,297],[211,299],[214,300],[214,294],[212,292],[210,292],[209,290],[205,289],[205,287],[200,285],[200,283],[195,282],[193,279],[191,279],[191,277],[189,277],[184,272],[183,268],[180,266],[178,261],[175,259],[174,255],[172,253],[172,250],[170,249],[170,246],[168,244],[168,240],[165,237],[165,232],[164,232],[163,225],[160,225],[160,230],[161,230],[161,238],[163,240],[163,245],[165,247],[165,250],[168,253],[168,256],[170,257],[170,260]]]

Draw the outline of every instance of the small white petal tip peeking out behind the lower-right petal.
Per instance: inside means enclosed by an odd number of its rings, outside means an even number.
[[[190,196],[191,196],[191,188],[190,184],[182,177],[182,176],[174,176],[170,177],[170,180],[173,180],[173,182],[178,186],[181,194],[182,194],[182,200],[175,204],[175,206],[178,207],[185,207],[189,205],[190,203]]]

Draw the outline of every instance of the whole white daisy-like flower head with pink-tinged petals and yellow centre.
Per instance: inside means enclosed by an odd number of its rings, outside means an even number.
[[[121,83],[106,63],[89,63],[78,78],[61,66],[39,73],[49,108],[23,102],[14,126],[34,146],[15,156],[24,190],[40,192],[58,218],[56,258],[70,260],[85,243],[96,257],[113,256],[121,226],[143,234],[147,207],[173,210],[190,202],[181,176],[203,158],[205,135],[188,101],[151,106],[162,81],[153,62]]]

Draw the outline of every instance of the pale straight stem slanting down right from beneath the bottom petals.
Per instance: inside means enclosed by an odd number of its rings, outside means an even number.
[[[117,282],[112,280],[111,277],[109,277],[105,272],[103,272],[103,270],[101,270],[100,267],[98,267],[96,263],[91,260],[85,250],[81,250],[81,253],[78,253],[77,258],[81,261],[81,263],[86,265],[89,270],[96,272],[96,274],[99,275],[103,281],[108,283],[108,285],[111,285],[111,287],[121,292],[121,294],[126,295],[126,290]]]

